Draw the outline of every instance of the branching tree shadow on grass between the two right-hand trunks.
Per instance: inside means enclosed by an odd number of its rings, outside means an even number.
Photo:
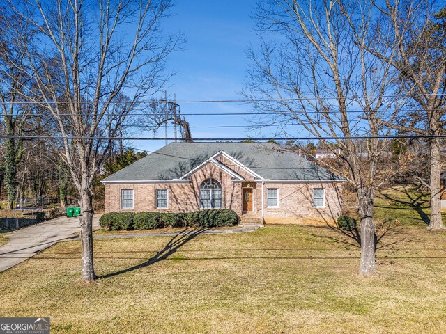
[[[406,210],[415,210],[415,212],[417,212],[417,214],[420,215],[421,220],[426,224],[429,225],[430,223],[430,218],[429,215],[426,214],[426,212],[424,212],[424,209],[426,209],[427,207],[429,207],[429,200],[426,200],[423,198],[423,196],[425,195],[422,192],[417,192],[417,191],[409,191],[407,189],[407,187],[403,187],[403,189],[393,189],[394,191],[401,193],[401,195],[406,196],[407,200],[403,200],[397,196],[392,196],[389,193],[379,193],[379,196],[377,196],[378,198],[382,198],[382,199],[386,199],[386,200],[392,200],[393,202],[395,202],[395,204],[401,204],[401,205],[405,205],[406,208],[404,207],[399,207],[398,209],[406,209]],[[428,206],[426,207],[426,204],[428,204]],[[392,207],[383,207],[383,206],[379,206],[379,205],[375,205],[375,207],[382,207],[383,209],[392,209]]]

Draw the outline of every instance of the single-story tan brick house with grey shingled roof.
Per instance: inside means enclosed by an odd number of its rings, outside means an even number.
[[[105,212],[222,208],[242,223],[331,223],[342,182],[275,143],[171,143],[102,180]]]

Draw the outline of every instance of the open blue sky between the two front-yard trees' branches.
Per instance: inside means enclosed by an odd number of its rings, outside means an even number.
[[[182,32],[186,42],[183,51],[169,56],[168,68],[175,71],[167,94],[176,100],[235,100],[246,79],[249,65],[246,51],[256,45],[254,20],[249,17],[256,0],[199,1],[178,0],[176,15],[165,22],[166,32]],[[180,104],[181,113],[240,113],[250,111],[249,104],[209,103]],[[193,126],[244,125],[247,116],[188,116]],[[171,131],[171,130],[169,130]],[[173,132],[170,132],[173,136]],[[194,137],[244,137],[254,132],[236,129],[192,128]],[[267,133],[265,133],[267,134]],[[146,133],[153,136],[153,133]],[[157,132],[164,136],[164,129]],[[134,142],[135,148],[155,150],[164,141]]]

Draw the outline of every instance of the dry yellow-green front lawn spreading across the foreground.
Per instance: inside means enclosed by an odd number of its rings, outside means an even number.
[[[96,239],[93,285],[67,241],[0,273],[1,316],[51,317],[52,333],[446,333],[446,232],[377,202],[401,225],[378,244],[376,278],[331,228]]]

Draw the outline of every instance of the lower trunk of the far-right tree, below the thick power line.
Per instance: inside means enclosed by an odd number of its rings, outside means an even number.
[[[429,178],[429,188],[431,191],[431,221],[428,229],[431,231],[443,230],[445,225],[441,217],[441,157],[440,139],[432,138],[430,143],[431,155],[431,175]]]

